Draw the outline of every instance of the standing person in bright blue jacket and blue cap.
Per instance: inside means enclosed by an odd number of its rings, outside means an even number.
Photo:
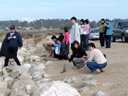
[[[105,22],[106,48],[111,48],[112,24],[109,19],[106,19]]]

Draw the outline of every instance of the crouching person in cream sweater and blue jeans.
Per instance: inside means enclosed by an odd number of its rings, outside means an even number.
[[[104,72],[104,68],[107,66],[107,60],[104,54],[99,49],[96,49],[94,43],[89,43],[88,46],[91,52],[86,63],[87,67],[94,72],[94,74]]]

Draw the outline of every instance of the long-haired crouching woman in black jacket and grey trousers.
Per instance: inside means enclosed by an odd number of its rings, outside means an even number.
[[[87,53],[85,50],[79,45],[78,41],[73,42],[73,54],[69,59],[69,62],[73,62],[74,66],[77,68],[82,68],[82,64],[87,60]]]

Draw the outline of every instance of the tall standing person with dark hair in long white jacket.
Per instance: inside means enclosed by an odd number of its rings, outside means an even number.
[[[72,22],[72,28],[70,31],[70,39],[69,42],[71,44],[71,49],[73,48],[73,42],[74,41],[78,41],[80,43],[80,31],[79,31],[79,25],[77,23],[77,19],[76,17],[72,17],[71,18],[71,22]]]

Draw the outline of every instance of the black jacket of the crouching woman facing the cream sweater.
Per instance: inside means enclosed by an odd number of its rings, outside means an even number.
[[[87,53],[83,48],[81,47],[79,47],[78,49],[73,48],[73,54],[71,55],[71,58],[69,58],[69,62],[71,62],[75,57],[82,58],[84,55],[87,56]]]

